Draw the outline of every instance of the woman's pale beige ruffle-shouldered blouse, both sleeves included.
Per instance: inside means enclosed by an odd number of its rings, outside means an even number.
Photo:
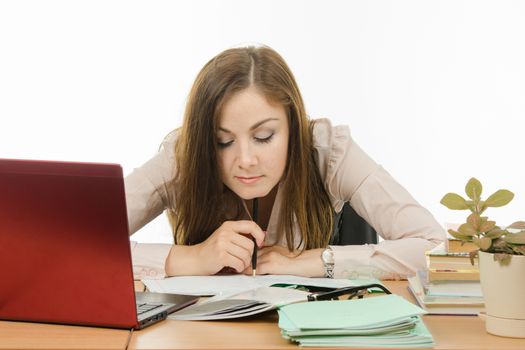
[[[335,210],[340,211],[344,202],[350,201],[382,238],[378,244],[332,246],[335,277],[395,279],[424,269],[425,252],[446,237],[432,214],[353,141],[348,126],[332,126],[328,119],[319,119],[313,136],[319,171]],[[176,132],[169,134],[160,151],[125,179],[130,234],[166,208],[177,208],[166,186],[177,171],[176,138]],[[286,246],[277,239],[281,202],[278,190],[265,241]],[[295,234],[299,235],[297,227]],[[164,277],[170,247],[132,242],[135,277]]]

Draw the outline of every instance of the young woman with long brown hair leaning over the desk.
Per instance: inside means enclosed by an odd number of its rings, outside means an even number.
[[[138,277],[257,273],[395,278],[425,267],[444,230],[352,140],[310,120],[292,72],[268,47],[226,50],[190,91],[183,126],[126,178],[130,233],[164,210],[174,245],[135,245]],[[259,219],[251,220],[258,199]],[[330,245],[349,201],[384,239]]]

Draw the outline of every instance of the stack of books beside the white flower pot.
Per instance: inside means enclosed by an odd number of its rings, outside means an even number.
[[[428,252],[428,269],[408,279],[409,289],[429,314],[476,315],[484,310],[479,262],[476,258],[472,265],[468,252],[448,243],[455,251],[437,247]]]

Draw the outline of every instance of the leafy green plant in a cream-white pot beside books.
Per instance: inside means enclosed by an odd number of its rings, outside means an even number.
[[[525,221],[507,227],[496,225],[483,212],[490,207],[508,204],[514,194],[498,190],[486,200],[481,198],[481,183],[471,178],[465,186],[468,199],[447,193],[441,204],[452,210],[469,210],[465,223],[448,230],[463,242],[473,242],[479,249],[470,253],[471,261],[479,256],[480,282],[485,300],[487,332],[506,337],[525,338]]]

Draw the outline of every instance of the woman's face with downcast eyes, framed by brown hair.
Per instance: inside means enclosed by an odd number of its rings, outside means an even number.
[[[286,168],[289,127],[284,107],[251,86],[219,115],[217,159],[222,182],[242,199],[266,196]]]

